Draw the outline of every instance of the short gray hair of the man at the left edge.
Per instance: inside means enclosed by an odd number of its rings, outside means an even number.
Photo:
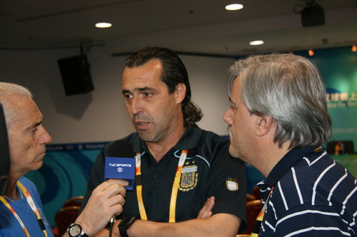
[[[10,122],[14,121],[16,116],[15,111],[9,105],[9,98],[13,96],[33,98],[32,93],[21,85],[0,82],[0,103],[4,107],[6,125],[8,126]]]

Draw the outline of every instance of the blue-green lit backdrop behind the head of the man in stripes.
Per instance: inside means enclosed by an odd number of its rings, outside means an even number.
[[[357,52],[351,47],[300,53],[318,66],[327,89],[331,140],[352,140],[357,151]]]

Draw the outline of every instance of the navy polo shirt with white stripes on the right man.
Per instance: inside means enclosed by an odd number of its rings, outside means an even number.
[[[295,148],[258,184],[268,200],[259,236],[356,236],[356,179],[326,151]]]

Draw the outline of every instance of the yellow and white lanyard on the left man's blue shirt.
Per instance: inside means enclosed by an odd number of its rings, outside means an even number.
[[[41,227],[42,232],[44,232],[44,236],[47,237],[47,232],[46,232],[46,228],[44,226],[44,221],[42,221],[42,218],[39,214],[39,210],[37,210],[36,205],[34,203],[34,200],[31,197],[30,192],[25,188],[24,185],[22,185],[20,183],[20,181],[17,181],[16,185],[19,186],[19,189],[21,189],[22,193],[25,195],[27,203],[29,204],[29,206],[31,206],[32,211],[34,211],[34,214],[36,214],[36,216],[37,216],[37,221],[39,221],[39,226]],[[29,231],[27,231],[27,228],[24,225],[24,222],[21,221],[21,218],[19,217],[18,214],[16,214],[16,211],[10,206],[9,202],[6,201],[6,199],[4,199],[3,196],[0,196],[0,201],[12,212],[12,214],[14,214],[16,220],[19,221],[26,236],[29,237],[30,234],[29,234]]]

